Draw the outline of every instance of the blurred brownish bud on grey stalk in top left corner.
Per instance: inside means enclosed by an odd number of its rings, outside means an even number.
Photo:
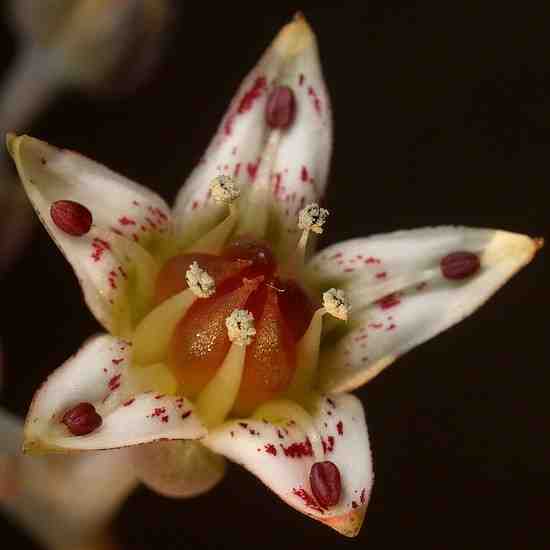
[[[160,57],[174,9],[171,0],[12,0],[9,6],[20,51],[0,89],[2,135],[21,131],[67,86],[135,91]]]

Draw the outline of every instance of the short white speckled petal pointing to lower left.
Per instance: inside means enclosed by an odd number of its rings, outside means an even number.
[[[206,430],[190,401],[146,392],[130,366],[131,345],[109,335],[91,338],[39,388],[25,422],[25,449],[114,449],[164,439],[198,439]],[[73,436],[67,409],[91,403],[103,422]]]

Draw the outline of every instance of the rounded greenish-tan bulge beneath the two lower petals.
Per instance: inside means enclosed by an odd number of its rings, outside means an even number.
[[[131,449],[141,481],[168,497],[194,497],[217,485],[225,473],[225,459],[199,441],[159,441]]]

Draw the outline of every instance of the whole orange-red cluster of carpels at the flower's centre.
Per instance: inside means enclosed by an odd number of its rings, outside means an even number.
[[[249,415],[289,386],[296,368],[296,344],[306,332],[315,306],[296,281],[277,276],[269,245],[250,238],[233,241],[219,256],[182,254],[171,258],[157,278],[157,303],[187,288],[185,274],[193,262],[215,280],[216,292],[196,300],[178,323],[168,366],[185,395],[196,397],[231,346],[225,319],[235,309],[250,311],[256,336],[246,349],[233,408],[238,416]]]

